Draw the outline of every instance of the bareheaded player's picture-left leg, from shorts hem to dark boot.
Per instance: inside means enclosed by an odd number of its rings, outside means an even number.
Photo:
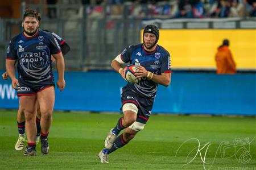
[[[26,119],[26,134],[28,145],[26,147],[26,151],[24,153],[25,156],[36,155],[36,113],[35,113],[35,103],[36,103],[36,96],[20,96],[19,97],[20,109],[24,112],[25,119]]]

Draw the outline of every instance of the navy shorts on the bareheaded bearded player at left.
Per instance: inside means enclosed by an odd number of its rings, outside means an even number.
[[[24,81],[18,78],[19,89],[17,90],[17,96],[34,96],[36,93],[41,92],[44,89],[47,89],[51,86],[55,86],[54,81],[47,80],[40,82],[39,84],[34,84],[31,82]]]

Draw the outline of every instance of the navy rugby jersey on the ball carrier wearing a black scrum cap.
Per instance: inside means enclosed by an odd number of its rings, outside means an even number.
[[[143,44],[130,45],[121,53],[124,63],[142,65],[147,71],[154,74],[171,73],[171,58],[169,52],[157,45],[155,51],[146,52]],[[154,98],[158,84],[143,77],[138,83],[127,82],[127,88],[142,97]]]

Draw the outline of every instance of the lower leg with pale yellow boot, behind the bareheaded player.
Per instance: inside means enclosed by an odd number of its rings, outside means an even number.
[[[19,132],[19,138],[15,144],[15,150],[21,151],[24,148],[24,142],[25,142],[25,116],[22,111],[22,109],[19,106],[19,110],[17,113],[17,124],[18,124],[18,132]]]

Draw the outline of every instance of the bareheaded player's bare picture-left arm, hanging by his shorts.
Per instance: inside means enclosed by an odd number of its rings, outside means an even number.
[[[11,85],[13,86],[14,89],[19,89],[19,82],[16,79],[15,76],[15,60],[6,60],[6,72],[9,75],[9,77],[11,78]]]

